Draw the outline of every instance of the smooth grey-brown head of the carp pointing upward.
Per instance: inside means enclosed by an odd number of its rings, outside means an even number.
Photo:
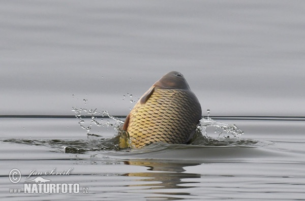
[[[165,74],[153,86],[160,89],[190,89],[184,76],[176,71]]]

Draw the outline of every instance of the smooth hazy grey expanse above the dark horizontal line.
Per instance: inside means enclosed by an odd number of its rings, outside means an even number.
[[[304,1],[0,2],[0,115],[127,115],[174,70],[203,115],[304,116],[304,64]]]

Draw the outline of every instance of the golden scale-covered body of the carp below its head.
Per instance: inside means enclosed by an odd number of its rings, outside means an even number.
[[[154,142],[186,144],[197,127],[198,108],[191,90],[155,89],[145,104],[138,102],[130,113],[127,132],[132,147]]]

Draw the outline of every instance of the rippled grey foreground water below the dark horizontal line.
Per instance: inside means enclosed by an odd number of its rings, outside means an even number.
[[[256,117],[258,118],[258,117]],[[242,119],[242,118],[241,118]],[[271,120],[270,120],[271,119]],[[57,183],[88,188],[81,199],[119,200],[303,200],[304,119],[222,119],[245,134],[219,138],[212,128],[209,145],[153,144],[143,149],[113,149],[113,128],[86,136],[73,118],[2,118],[1,197],[11,200],[68,199],[79,194],[11,194],[21,188],[8,179],[11,169],[69,170],[69,176],[44,176]],[[85,119],[89,121],[90,119]],[[107,121],[107,119],[104,119]],[[220,120],[218,120],[220,121]],[[14,126],[12,126],[14,125]],[[108,145],[108,147],[107,147]],[[35,178],[35,177],[30,177]]]

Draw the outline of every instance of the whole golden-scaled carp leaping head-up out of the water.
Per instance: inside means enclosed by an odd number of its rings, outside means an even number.
[[[201,117],[201,105],[184,76],[169,72],[140,97],[126,117],[119,147],[141,148],[156,142],[187,144]]]

